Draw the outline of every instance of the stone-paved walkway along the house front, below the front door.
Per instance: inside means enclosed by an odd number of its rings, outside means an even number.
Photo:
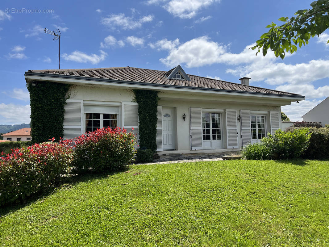
[[[146,164],[169,164],[169,163],[185,163],[185,162],[197,162],[197,161],[217,161],[223,160],[222,156],[232,154],[228,153],[175,153],[175,154],[163,154],[159,159],[154,159],[153,162]],[[141,164],[136,164],[141,165]]]

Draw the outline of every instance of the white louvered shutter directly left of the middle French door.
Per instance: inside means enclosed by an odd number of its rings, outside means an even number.
[[[191,150],[202,149],[202,110],[190,108]]]

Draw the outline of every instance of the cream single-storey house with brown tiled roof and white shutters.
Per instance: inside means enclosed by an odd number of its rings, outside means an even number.
[[[27,83],[71,84],[64,114],[64,138],[106,126],[134,127],[134,89],[159,91],[157,151],[189,153],[237,150],[281,127],[281,106],[305,97],[188,75],[180,65],[169,71],[131,67],[29,70]],[[184,116],[186,118],[184,119]]]

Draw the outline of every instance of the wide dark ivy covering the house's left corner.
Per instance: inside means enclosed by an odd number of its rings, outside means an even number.
[[[63,137],[64,105],[70,85],[38,82],[27,85],[30,92],[31,136],[35,143]]]

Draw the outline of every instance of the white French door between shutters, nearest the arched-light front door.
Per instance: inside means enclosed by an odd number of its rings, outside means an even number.
[[[222,149],[222,116],[220,113],[202,112],[202,149]]]

